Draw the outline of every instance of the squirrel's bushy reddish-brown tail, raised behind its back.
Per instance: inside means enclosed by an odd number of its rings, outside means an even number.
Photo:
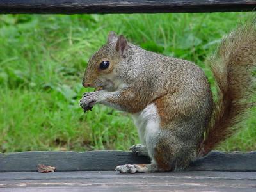
[[[210,67],[217,86],[217,99],[211,124],[205,132],[201,154],[234,133],[252,103],[253,70],[256,64],[255,20],[232,31],[223,38]]]

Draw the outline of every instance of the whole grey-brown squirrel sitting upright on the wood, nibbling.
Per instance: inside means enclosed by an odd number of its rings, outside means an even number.
[[[125,164],[120,173],[184,170],[236,132],[248,109],[256,61],[255,21],[225,36],[209,59],[216,99],[204,71],[191,61],[146,51],[110,32],[83,77],[80,106],[131,113],[142,144],[130,150],[150,164]]]

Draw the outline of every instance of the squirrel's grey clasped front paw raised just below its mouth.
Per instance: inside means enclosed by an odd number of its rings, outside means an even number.
[[[97,92],[83,93],[83,97],[80,100],[80,106],[84,112],[92,110],[93,106],[97,102]]]

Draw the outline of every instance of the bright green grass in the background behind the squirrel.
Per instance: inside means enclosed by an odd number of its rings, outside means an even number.
[[[95,106],[84,115],[79,99],[88,58],[109,31],[154,52],[205,59],[221,36],[252,13],[155,15],[0,15],[0,151],[127,150],[138,143],[129,115]],[[220,150],[256,150],[256,120]]]

